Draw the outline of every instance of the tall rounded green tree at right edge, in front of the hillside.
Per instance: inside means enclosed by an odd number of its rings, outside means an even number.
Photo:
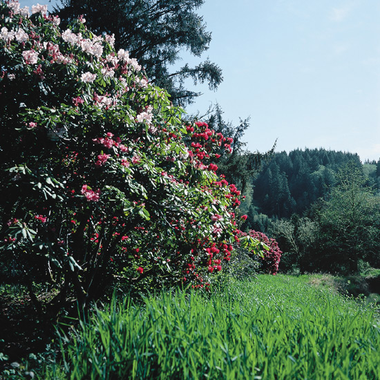
[[[319,212],[320,267],[358,272],[359,259],[379,265],[380,198],[365,187],[361,168],[348,164]]]

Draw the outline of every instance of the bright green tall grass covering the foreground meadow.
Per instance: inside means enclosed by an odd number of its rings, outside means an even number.
[[[62,339],[64,370],[45,378],[379,379],[377,313],[289,276],[114,299]]]

